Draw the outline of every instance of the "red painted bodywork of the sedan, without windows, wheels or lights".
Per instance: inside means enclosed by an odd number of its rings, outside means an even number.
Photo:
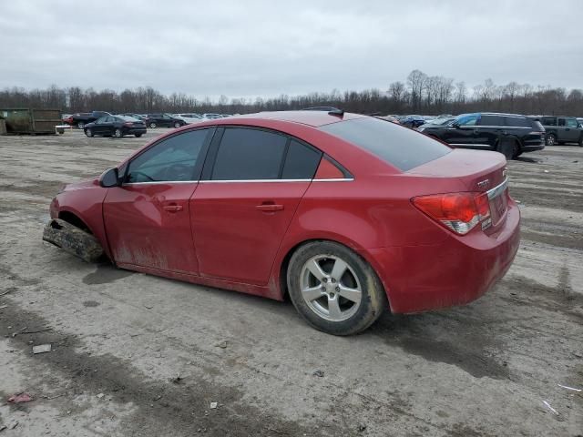
[[[313,239],[338,241],[366,259],[394,312],[442,308],[481,296],[516,255],[516,204],[508,198],[506,214],[493,213],[492,226],[482,230],[478,225],[459,236],[415,208],[411,199],[486,191],[503,180],[505,159],[493,152],[456,149],[402,172],[314,128],[355,117],[362,116],[265,113],[178,129],[245,125],[280,130],[320,148],[353,180],[325,180],[343,178],[326,159],[313,181],[100,188],[95,179],[58,194],[51,216],[76,214],[119,267],[272,299],[282,299],[285,259]],[[489,187],[479,188],[485,179]]]

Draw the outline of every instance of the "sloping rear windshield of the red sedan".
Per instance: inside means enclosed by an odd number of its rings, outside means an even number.
[[[372,152],[402,171],[441,158],[452,150],[424,134],[374,117],[341,121],[320,129]]]

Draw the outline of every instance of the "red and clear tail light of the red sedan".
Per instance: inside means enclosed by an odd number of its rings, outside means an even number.
[[[467,234],[479,223],[482,223],[482,229],[492,224],[486,193],[436,194],[412,198],[412,201],[424,214],[459,235]]]

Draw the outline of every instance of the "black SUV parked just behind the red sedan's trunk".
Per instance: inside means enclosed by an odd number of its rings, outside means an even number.
[[[545,128],[517,114],[462,114],[446,125],[427,125],[422,132],[453,147],[496,150],[506,159],[545,148]]]

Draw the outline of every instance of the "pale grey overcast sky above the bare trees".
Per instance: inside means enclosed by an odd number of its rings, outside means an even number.
[[[202,98],[430,76],[583,88],[583,2],[0,2],[0,88],[153,86]]]

